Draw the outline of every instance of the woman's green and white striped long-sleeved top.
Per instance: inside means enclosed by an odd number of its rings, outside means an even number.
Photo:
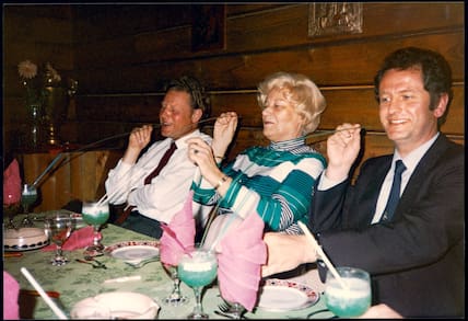
[[[222,169],[233,179],[223,198],[201,180],[192,183],[194,200],[219,202],[219,214],[235,213],[243,218],[256,211],[266,231],[300,234],[296,222],[308,221],[314,185],[325,167],[324,156],[305,145],[304,137],[251,147]]]

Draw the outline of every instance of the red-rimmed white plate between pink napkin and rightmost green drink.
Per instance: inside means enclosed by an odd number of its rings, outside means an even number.
[[[269,278],[260,288],[258,308],[269,311],[291,311],[315,305],[320,295],[307,285]]]

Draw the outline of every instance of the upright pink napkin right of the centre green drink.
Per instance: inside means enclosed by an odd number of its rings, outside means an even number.
[[[231,227],[220,241],[218,283],[221,296],[251,311],[257,302],[261,265],[267,262],[264,220],[251,214],[238,226]]]

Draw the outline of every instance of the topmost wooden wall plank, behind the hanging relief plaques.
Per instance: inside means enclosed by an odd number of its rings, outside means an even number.
[[[154,61],[161,59],[186,59],[191,57],[213,56],[213,54],[238,53],[241,55],[256,51],[270,50],[271,48],[285,48],[294,46],[304,46],[307,44],[323,46],[330,41],[344,41],[358,38],[371,38],[381,35],[391,35],[391,37],[403,34],[433,33],[435,28],[452,28],[464,26],[464,14],[461,3],[364,3],[363,5],[363,33],[361,34],[338,34],[334,36],[308,37],[308,3],[300,4],[278,4],[270,8],[257,8],[250,12],[234,12],[229,10],[226,19],[226,48],[227,50],[214,50],[210,53],[191,53],[190,49],[190,24],[175,16],[175,21],[166,30],[161,30],[156,22],[153,28],[149,26],[145,32],[138,33],[134,30],[134,48],[141,55],[144,61]],[[138,5],[137,5],[138,8]],[[136,9],[133,14],[136,20],[147,18],[147,7]],[[168,11],[172,5],[160,7],[161,11]],[[189,7],[185,11],[189,10]],[[184,11],[184,12],[185,12]],[[417,15],[413,13],[418,12]],[[168,12],[171,14],[171,12]],[[108,18],[107,18],[108,19]],[[102,24],[105,24],[106,18],[103,18]],[[385,21],[385,28],[382,27],[382,21]],[[95,28],[95,22],[90,21],[89,27]],[[115,24],[115,16],[113,18]],[[177,27],[174,27],[177,26]],[[116,26],[116,30],[119,30]],[[102,34],[102,41],[119,42],[120,37],[129,34],[121,30],[116,33]],[[261,39],[261,41],[260,41]],[[93,43],[86,44],[93,46]],[[131,50],[132,48],[129,48]],[[95,48],[92,48],[95,53]],[[100,53],[100,51],[97,51]],[[107,54],[108,56],[109,54]],[[105,62],[102,58],[106,55],[96,55],[94,59],[96,66],[103,66]],[[87,56],[80,56],[87,59]],[[127,56],[127,64],[131,64],[133,57]],[[120,58],[118,58],[120,60]],[[93,64],[85,60],[86,64]]]

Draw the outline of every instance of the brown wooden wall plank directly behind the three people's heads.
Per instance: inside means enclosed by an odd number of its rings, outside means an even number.
[[[413,35],[386,41],[385,46],[382,41],[373,39],[309,49],[162,61],[145,67],[121,66],[117,70],[80,70],[78,77],[83,92],[90,93],[152,91],[157,80],[161,84],[163,79],[185,73],[200,78],[212,90],[256,88],[267,74],[280,70],[305,73],[319,85],[370,84],[386,55],[411,45],[441,51],[453,68],[454,79],[463,80],[464,37],[463,31],[442,35]]]

